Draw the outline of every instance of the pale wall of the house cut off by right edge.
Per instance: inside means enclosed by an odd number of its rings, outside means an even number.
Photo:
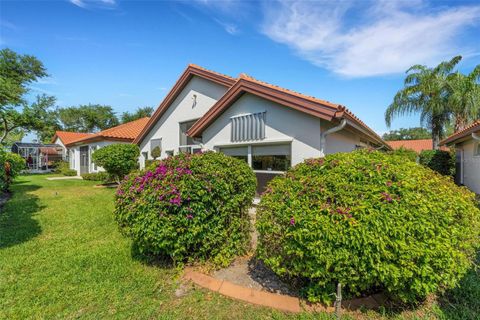
[[[469,139],[455,147],[463,150],[463,184],[480,194],[480,156],[474,155],[474,147],[478,142]]]

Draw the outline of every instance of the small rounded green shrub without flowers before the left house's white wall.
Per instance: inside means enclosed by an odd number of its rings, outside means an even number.
[[[138,167],[140,150],[135,144],[111,144],[96,150],[92,159],[117,182]]]

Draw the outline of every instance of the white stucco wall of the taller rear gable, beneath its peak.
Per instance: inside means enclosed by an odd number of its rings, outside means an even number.
[[[222,85],[194,76],[140,142],[140,167],[143,168],[145,163],[144,152],[148,152],[151,159],[152,139],[162,139],[162,158],[166,157],[166,152],[170,150],[174,150],[176,154],[180,140],[180,123],[202,117],[226,91],[227,88]]]

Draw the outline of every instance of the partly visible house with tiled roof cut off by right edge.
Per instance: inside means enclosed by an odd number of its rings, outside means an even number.
[[[440,141],[440,145],[455,149],[455,181],[480,194],[480,120]]]

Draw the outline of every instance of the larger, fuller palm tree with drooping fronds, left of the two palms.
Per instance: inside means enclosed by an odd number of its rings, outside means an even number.
[[[390,127],[393,118],[406,114],[420,114],[420,122],[432,132],[433,148],[438,149],[445,125],[451,112],[448,107],[448,78],[462,59],[454,57],[435,68],[414,65],[407,70],[404,88],[397,92],[385,112],[385,122]]]

